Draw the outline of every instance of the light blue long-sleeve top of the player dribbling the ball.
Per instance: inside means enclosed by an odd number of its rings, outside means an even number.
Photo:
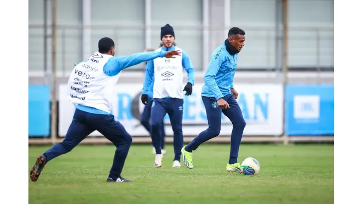
[[[237,67],[237,54],[231,55],[223,43],[210,56],[202,96],[214,97],[216,100],[231,94],[233,77]]]

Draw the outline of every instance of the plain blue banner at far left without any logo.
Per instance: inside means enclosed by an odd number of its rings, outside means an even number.
[[[49,137],[51,131],[50,90],[45,85],[29,85],[28,136]]]

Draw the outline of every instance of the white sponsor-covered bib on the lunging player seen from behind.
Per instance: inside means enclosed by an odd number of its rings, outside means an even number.
[[[74,105],[85,105],[111,112],[111,98],[120,77],[104,74],[104,65],[113,57],[96,51],[87,60],[79,63],[68,79],[68,99]]]

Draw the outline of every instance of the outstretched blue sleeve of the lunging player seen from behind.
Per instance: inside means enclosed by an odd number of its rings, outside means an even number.
[[[111,57],[104,65],[104,74],[112,77],[118,75],[121,70],[149,61],[157,57],[164,57],[165,51],[138,52],[128,56]]]

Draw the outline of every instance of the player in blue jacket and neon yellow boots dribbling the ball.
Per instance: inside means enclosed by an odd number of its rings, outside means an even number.
[[[233,88],[233,77],[237,67],[238,52],[243,48],[245,40],[245,31],[238,27],[232,27],[228,31],[228,38],[210,56],[201,94],[206,107],[208,128],[199,133],[193,141],[181,150],[184,164],[189,169],[194,167],[192,152],[202,143],[219,135],[221,113],[223,113],[233,124],[230,160],[226,168],[228,172],[240,173],[241,171],[237,157],[246,122],[236,101],[238,92]]]

